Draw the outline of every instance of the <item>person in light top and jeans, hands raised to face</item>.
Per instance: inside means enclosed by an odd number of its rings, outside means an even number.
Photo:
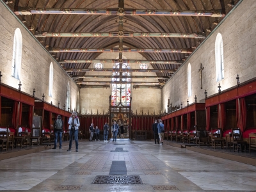
[[[72,140],[73,140],[73,136],[75,137],[75,141],[76,141],[76,152],[78,152],[78,127],[80,126],[80,122],[77,116],[76,112],[73,112],[72,115],[70,116],[69,120],[68,120],[68,130],[69,130],[69,147],[67,151],[71,150],[72,147]]]

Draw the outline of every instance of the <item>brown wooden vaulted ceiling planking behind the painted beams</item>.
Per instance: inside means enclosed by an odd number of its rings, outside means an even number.
[[[239,0],[237,0],[239,1]],[[124,0],[125,8],[140,10],[221,10],[223,15],[232,10],[232,0]],[[8,4],[12,10],[19,7],[31,8],[88,8],[107,9],[118,8],[118,0],[16,0]],[[17,15],[22,22],[36,34],[36,31],[46,32],[110,32],[118,31],[118,15],[66,15],[66,14],[33,14]],[[124,15],[123,29],[132,32],[152,33],[205,33],[209,35],[212,29],[223,17],[204,16],[156,16],[156,15]],[[118,37],[38,37],[45,46],[51,48],[113,48],[119,44]],[[123,45],[129,48],[145,49],[190,49],[195,50],[203,41],[202,38],[160,38],[160,37],[130,37],[123,38]],[[54,52],[56,60],[95,60],[101,52]],[[179,52],[141,52],[147,60],[184,61],[189,53]],[[109,58],[109,60],[115,58]],[[88,68],[91,63],[63,63],[64,68]],[[154,69],[165,70],[157,72],[157,76],[170,77],[179,65],[151,64]],[[70,76],[84,76],[86,72],[69,72]],[[82,81],[83,79],[75,79]]]

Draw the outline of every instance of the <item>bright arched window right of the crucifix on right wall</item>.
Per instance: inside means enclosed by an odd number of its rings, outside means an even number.
[[[220,81],[224,78],[223,40],[220,33],[218,33],[215,40],[215,65],[216,80]]]

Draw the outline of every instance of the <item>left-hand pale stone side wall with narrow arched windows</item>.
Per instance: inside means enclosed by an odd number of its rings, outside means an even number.
[[[67,91],[67,82],[70,83],[70,109],[76,109],[78,86],[62,69],[54,58],[45,51],[44,47],[31,36],[29,31],[0,3],[0,71],[2,83],[18,88],[19,80],[12,77],[13,38],[15,29],[22,33],[22,63],[20,72],[21,90],[30,95],[35,88],[35,96],[63,108]],[[52,97],[49,96],[49,67],[53,65]],[[67,108],[66,108],[67,109]]]

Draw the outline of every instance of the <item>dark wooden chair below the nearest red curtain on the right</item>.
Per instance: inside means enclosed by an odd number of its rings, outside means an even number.
[[[231,145],[234,149],[234,152],[237,150],[237,152],[239,152],[239,148],[242,151],[242,147],[244,146],[244,151],[246,152],[246,141],[243,141],[243,137],[242,137],[242,133],[241,130],[238,128],[233,128],[231,129],[231,134],[232,134],[232,138],[233,141],[231,142]]]

